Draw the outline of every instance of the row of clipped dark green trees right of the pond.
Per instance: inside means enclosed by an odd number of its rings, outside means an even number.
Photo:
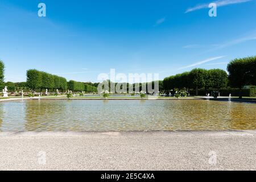
[[[221,89],[229,85],[239,88],[240,98],[242,98],[243,86],[256,85],[256,56],[230,61],[227,71],[229,75],[222,69],[195,68],[190,72],[164,78],[163,87],[164,90],[194,89],[197,95],[198,89]]]

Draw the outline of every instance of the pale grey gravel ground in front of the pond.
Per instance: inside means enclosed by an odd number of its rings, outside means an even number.
[[[256,131],[0,133],[0,169],[256,170]]]

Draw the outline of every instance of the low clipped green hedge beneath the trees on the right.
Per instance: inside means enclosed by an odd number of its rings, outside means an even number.
[[[207,91],[205,89],[199,89],[199,96],[205,96],[206,93],[211,93],[212,91],[216,91],[217,89],[208,89]],[[240,89],[236,88],[229,88],[229,89],[220,89],[220,96],[229,96],[231,93],[232,96],[239,96]],[[196,90],[190,91],[191,95],[196,94]],[[250,89],[242,89],[242,96],[243,97],[256,97],[256,89],[250,88]]]

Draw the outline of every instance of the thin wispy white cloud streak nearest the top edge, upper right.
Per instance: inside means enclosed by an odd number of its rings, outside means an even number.
[[[217,7],[220,7],[220,6],[234,5],[234,4],[244,3],[244,2],[249,2],[249,1],[253,1],[253,0],[218,0],[218,1],[214,1],[213,3],[216,3]],[[189,12],[201,10],[201,9],[206,9],[206,8],[208,8],[208,6],[209,6],[209,3],[196,5],[194,7],[190,7],[189,9],[187,9],[185,11],[185,13],[189,13]]]

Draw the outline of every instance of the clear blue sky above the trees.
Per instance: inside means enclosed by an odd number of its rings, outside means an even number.
[[[163,79],[256,55],[256,1],[219,0],[217,17],[208,15],[210,2],[1,0],[5,81],[26,81],[31,68],[77,81],[97,81],[110,68]]]

